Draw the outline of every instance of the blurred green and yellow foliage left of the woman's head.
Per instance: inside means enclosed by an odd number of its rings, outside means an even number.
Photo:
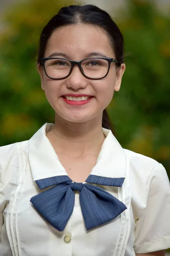
[[[0,145],[28,140],[54,116],[41,90],[36,49],[48,20],[62,6],[73,3],[29,0],[4,16],[7,29],[0,35]]]

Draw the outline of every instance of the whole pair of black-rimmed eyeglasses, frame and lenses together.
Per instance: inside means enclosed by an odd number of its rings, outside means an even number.
[[[121,64],[113,58],[86,58],[71,61],[66,58],[41,58],[46,76],[51,79],[65,79],[70,76],[74,65],[78,65],[83,76],[89,79],[102,79],[108,75],[111,63]]]

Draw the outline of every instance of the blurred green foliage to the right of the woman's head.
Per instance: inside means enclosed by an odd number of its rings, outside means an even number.
[[[152,157],[170,175],[170,18],[144,0],[129,0],[120,23],[126,71],[108,108],[119,142]]]

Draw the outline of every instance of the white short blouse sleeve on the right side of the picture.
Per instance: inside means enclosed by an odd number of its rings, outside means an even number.
[[[136,221],[135,253],[170,248],[170,182],[161,164],[151,172],[147,189],[147,206]]]

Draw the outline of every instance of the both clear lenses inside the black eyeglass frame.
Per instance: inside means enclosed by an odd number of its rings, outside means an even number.
[[[108,72],[108,61],[105,59],[88,59],[82,61],[81,67],[89,78],[102,78]],[[53,79],[61,79],[68,76],[71,70],[71,62],[63,59],[49,59],[45,61],[45,71]]]

